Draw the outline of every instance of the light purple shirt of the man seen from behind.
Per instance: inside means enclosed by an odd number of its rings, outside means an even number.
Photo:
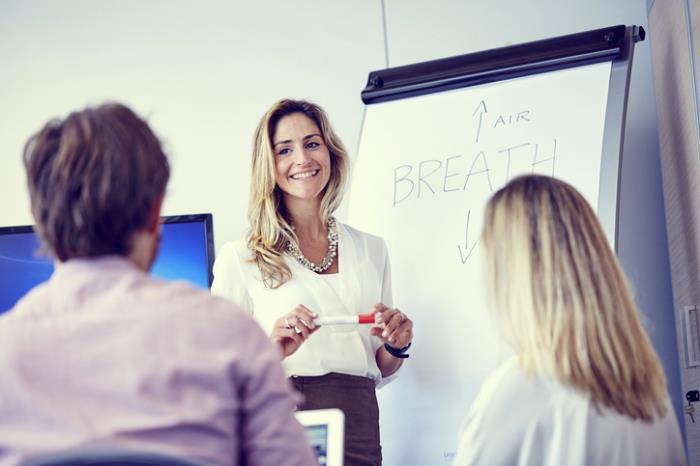
[[[79,446],[314,465],[280,356],[229,302],[71,260],[0,317],[0,466]]]

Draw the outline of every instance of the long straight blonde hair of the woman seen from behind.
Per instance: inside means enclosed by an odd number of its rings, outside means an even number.
[[[509,182],[488,202],[486,279],[501,332],[529,372],[554,375],[650,422],[666,380],[630,288],[583,196],[545,176]]]

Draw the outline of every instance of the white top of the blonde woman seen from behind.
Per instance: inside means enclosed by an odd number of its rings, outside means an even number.
[[[528,376],[516,359],[484,382],[467,417],[454,466],[684,465],[673,407],[635,421],[558,381]]]

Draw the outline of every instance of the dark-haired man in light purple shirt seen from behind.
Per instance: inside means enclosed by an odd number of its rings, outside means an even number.
[[[280,355],[229,302],[148,275],[170,169],[128,108],[51,121],[26,145],[57,261],[0,317],[0,465],[113,446],[203,464],[316,464]]]

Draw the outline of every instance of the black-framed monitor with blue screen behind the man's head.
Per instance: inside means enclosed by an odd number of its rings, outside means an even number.
[[[212,215],[167,216],[162,221],[160,249],[152,275],[165,280],[187,280],[208,289],[214,264]],[[53,260],[42,254],[33,227],[0,227],[0,314],[52,273]]]

